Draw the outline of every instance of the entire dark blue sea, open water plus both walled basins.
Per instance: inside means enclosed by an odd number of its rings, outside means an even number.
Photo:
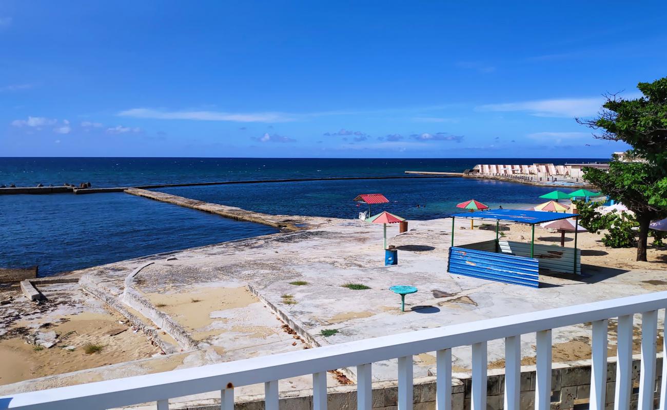
[[[93,187],[261,179],[398,176],[404,171],[463,171],[478,163],[590,162],[600,159],[246,159],[0,158],[0,185]],[[384,193],[378,205],[408,219],[456,212],[477,199],[490,207],[542,202],[544,187],[463,178],[368,179],[170,187],[175,195],[275,214],[355,218],[360,193]],[[565,191],[568,191],[565,189]],[[275,233],[124,193],[0,195],[0,267],[39,266],[40,275]]]

